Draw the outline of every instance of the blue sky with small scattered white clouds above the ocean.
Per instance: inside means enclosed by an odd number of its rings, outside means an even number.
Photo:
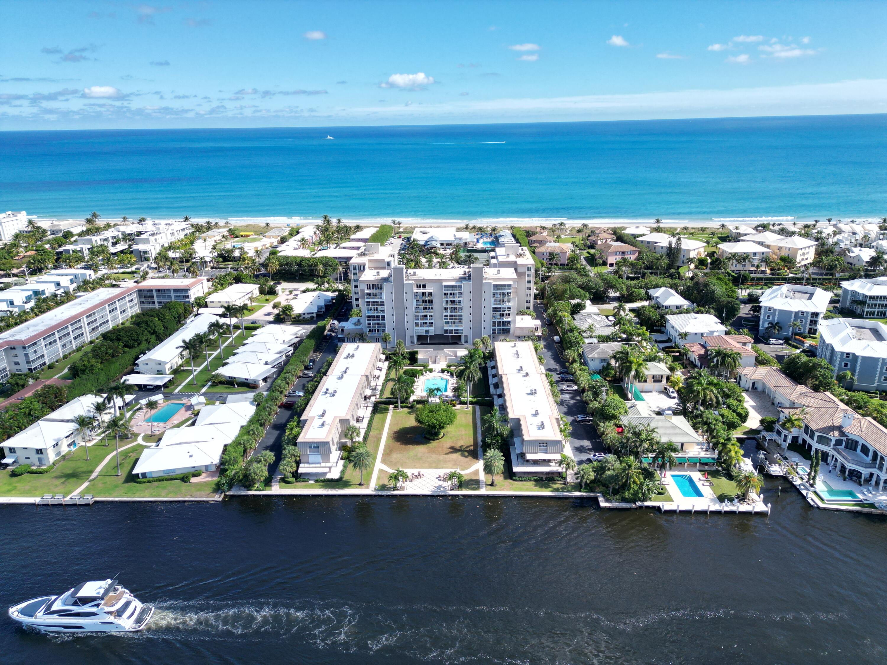
[[[0,129],[887,113],[883,2],[4,0]]]

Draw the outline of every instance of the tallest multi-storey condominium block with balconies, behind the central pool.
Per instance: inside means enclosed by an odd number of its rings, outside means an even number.
[[[483,335],[514,334],[518,300],[512,268],[365,270],[359,280],[364,331],[370,340],[389,332],[408,345],[470,344]],[[521,303],[518,306],[518,302]]]

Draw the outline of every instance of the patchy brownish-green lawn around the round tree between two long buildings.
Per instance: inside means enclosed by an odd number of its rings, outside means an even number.
[[[412,409],[397,411],[394,408],[382,464],[391,469],[467,469],[475,464],[477,436],[474,409],[457,410],[456,422],[447,427],[443,438],[438,441],[425,438],[413,412]]]

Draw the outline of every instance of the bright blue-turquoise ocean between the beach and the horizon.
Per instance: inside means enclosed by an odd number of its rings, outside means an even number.
[[[883,114],[19,131],[0,132],[0,155],[0,209],[36,217],[887,215]]]

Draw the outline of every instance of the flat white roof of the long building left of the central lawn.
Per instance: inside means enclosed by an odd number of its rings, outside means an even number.
[[[318,386],[313,403],[302,414],[307,420],[300,439],[328,441],[330,428],[336,418],[348,418],[361,378],[375,371],[373,361],[378,344],[345,344],[339,350],[333,366]]]

